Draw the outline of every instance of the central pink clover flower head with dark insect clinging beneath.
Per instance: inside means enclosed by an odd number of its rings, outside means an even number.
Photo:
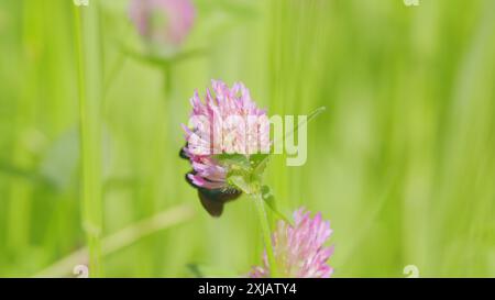
[[[189,127],[183,125],[187,144],[183,156],[189,158],[193,171],[190,184],[205,189],[229,189],[229,169],[215,155],[242,154],[249,156],[270,151],[270,123],[266,112],[256,107],[243,84],[229,88],[212,80],[205,102],[196,91],[190,99],[193,113]]]

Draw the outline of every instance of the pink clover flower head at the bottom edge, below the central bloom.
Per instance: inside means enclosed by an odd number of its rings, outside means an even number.
[[[317,213],[311,219],[309,212],[299,209],[294,212],[294,225],[279,221],[272,235],[274,256],[280,277],[289,278],[329,278],[333,268],[327,262],[333,254],[333,247],[323,244],[332,234],[330,222]],[[250,277],[271,276],[266,253],[263,266],[253,267]]]

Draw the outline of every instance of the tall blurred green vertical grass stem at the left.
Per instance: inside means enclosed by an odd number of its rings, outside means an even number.
[[[81,153],[82,229],[89,251],[89,275],[101,277],[101,53],[98,5],[75,7]]]

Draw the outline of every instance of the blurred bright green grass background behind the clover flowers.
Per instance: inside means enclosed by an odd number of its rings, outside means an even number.
[[[101,97],[101,226],[81,199],[75,7],[0,0],[0,276],[240,276],[258,264],[250,199],[210,218],[184,180],[180,123],[211,78],[272,114],[327,111],[308,160],[270,165],[280,209],[321,211],[336,277],[495,276],[495,1],[196,0],[180,59],[143,59],[127,0],[90,0]],[[85,27],[82,27],[82,31]],[[90,211],[89,214],[99,211]],[[98,220],[98,218],[96,218]],[[86,224],[86,225],[85,225]]]

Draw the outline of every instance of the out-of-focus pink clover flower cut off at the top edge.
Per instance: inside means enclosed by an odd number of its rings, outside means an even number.
[[[180,45],[195,21],[190,0],[131,0],[130,16],[152,43]]]

